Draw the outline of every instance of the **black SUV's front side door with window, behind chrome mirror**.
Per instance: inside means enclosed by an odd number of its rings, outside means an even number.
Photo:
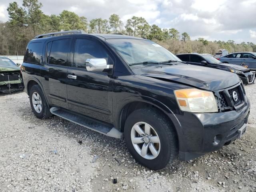
[[[113,57],[106,47],[92,37],[76,38],[72,52],[72,67],[68,69],[69,109],[80,114],[112,122],[112,76],[108,72],[86,70],[86,59],[104,58],[113,65]]]

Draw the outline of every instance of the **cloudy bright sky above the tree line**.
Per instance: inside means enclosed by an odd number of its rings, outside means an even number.
[[[256,0],[39,0],[44,14],[70,10],[79,16],[109,18],[118,14],[125,23],[132,16],[146,18],[161,28],[188,32],[192,39],[256,43]],[[0,20],[7,21],[11,0],[0,1]],[[16,0],[22,5],[22,0]]]

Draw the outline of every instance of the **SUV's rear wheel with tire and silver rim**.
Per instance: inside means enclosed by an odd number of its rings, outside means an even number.
[[[52,116],[39,85],[33,85],[31,87],[29,91],[29,100],[32,111],[37,118],[44,119]]]

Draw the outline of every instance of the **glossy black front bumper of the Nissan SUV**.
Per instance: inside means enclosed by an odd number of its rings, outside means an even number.
[[[180,160],[191,160],[230,144],[239,138],[240,128],[247,124],[249,114],[250,102],[245,96],[245,104],[238,110],[176,115],[183,133],[179,136]],[[215,136],[218,144],[214,143]]]

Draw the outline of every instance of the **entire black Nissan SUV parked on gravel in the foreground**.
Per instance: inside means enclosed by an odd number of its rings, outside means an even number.
[[[28,43],[24,90],[52,114],[125,138],[137,162],[164,168],[220,149],[246,131],[250,102],[234,73],[184,64],[150,40],[57,32]]]

